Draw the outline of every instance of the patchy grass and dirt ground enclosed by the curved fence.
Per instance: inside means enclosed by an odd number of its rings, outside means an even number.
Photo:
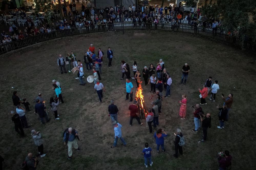
[[[138,34],[136,34],[138,33]],[[113,67],[107,67],[106,54],[103,60],[102,83],[106,88],[103,103],[100,104],[93,87],[87,83],[79,86],[76,74],[59,73],[57,56],[74,51],[78,59],[83,59],[84,52],[93,43],[104,53],[108,46],[114,52]],[[125,102],[125,80],[121,77],[121,60],[130,66],[134,60],[139,70],[150,63],[156,65],[159,59],[165,62],[173,84],[171,96],[162,103],[162,115],[159,117],[159,128],[165,129],[168,136],[165,139],[166,152],[156,153],[153,134],[149,133],[145,120],[139,126],[133,120],[129,126],[130,103]],[[233,156],[232,169],[255,169],[254,157],[255,139],[255,100],[254,80],[256,79],[255,57],[238,49],[212,42],[187,34],[167,33],[160,31],[126,31],[106,32],[78,35],[39,43],[0,56],[1,81],[1,139],[0,153],[5,158],[5,169],[19,169],[27,153],[37,153],[30,136],[30,130],[36,129],[43,134],[46,156],[39,158],[37,169],[144,169],[141,154],[144,143],[149,142],[152,148],[153,166],[150,169],[218,169],[217,153],[229,150]],[[190,65],[187,85],[179,85],[181,68],[184,63]],[[91,75],[85,71],[85,77]],[[201,131],[193,133],[193,114],[191,106],[199,103],[198,88],[206,79],[212,76],[218,80],[220,90],[213,103],[207,98],[208,105],[203,106],[205,113],[211,113],[212,128],[208,129],[207,142],[198,144]],[[54,95],[52,80],[58,80],[63,88],[64,104],[58,106],[60,120],[54,120],[54,114],[49,109],[49,99]],[[135,82],[132,81],[135,85]],[[14,88],[11,88],[14,87]],[[144,100],[150,106],[150,87],[144,86]],[[20,98],[27,98],[30,110],[26,113],[31,128],[24,129],[26,137],[19,137],[11,122],[11,110],[14,106],[11,100],[12,92],[18,91]],[[37,115],[33,113],[34,99],[39,92],[46,100],[48,114],[52,118],[46,125],[41,125]],[[163,91],[165,93],[165,90]],[[216,105],[221,105],[221,93],[234,94],[234,102],[230,111],[230,120],[225,123],[225,129],[217,129],[219,125]],[[186,94],[187,117],[180,120],[179,103],[181,95]],[[134,95],[135,96],[135,95]],[[119,108],[118,122],[122,124],[122,133],[127,147],[118,142],[117,148],[110,148],[114,141],[107,108],[114,99]],[[67,160],[67,147],[62,142],[63,130],[73,127],[78,130],[81,151],[73,149],[72,160]],[[175,159],[173,132],[181,128],[185,135],[184,154]],[[155,129],[154,129],[155,130]]]

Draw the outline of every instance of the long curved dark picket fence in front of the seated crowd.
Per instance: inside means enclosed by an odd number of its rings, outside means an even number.
[[[203,27],[193,27],[190,25],[171,25],[170,23],[131,23],[131,22],[116,22],[114,24],[100,25],[99,27],[95,25],[94,27],[77,27],[66,30],[53,31],[50,33],[43,33],[35,35],[32,37],[25,38],[23,40],[17,40],[14,42],[6,43],[0,46],[0,55],[6,52],[16,50],[25,46],[33,45],[39,42],[48,41],[56,38],[66,37],[70,35],[93,33],[93,32],[104,32],[104,31],[117,31],[122,30],[161,30],[167,32],[180,32],[180,33],[190,33],[194,35],[199,35],[201,37],[210,38],[211,40],[216,40],[224,43],[228,43],[234,46],[243,47],[250,51],[256,51],[256,43],[250,41],[241,41],[239,37],[230,36],[227,34],[214,32],[212,29],[207,29]]]

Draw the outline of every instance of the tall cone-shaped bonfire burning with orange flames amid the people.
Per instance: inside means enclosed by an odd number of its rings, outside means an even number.
[[[146,108],[146,105],[144,102],[144,96],[142,94],[143,89],[141,87],[141,83],[142,82],[139,82],[139,87],[137,88],[135,99],[138,101],[138,108],[139,108],[139,112],[140,112],[139,118],[145,119],[148,112],[147,112],[147,108]]]

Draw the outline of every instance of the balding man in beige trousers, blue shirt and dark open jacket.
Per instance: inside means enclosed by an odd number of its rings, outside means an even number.
[[[80,151],[80,148],[78,147],[77,140],[79,140],[78,132],[73,128],[68,128],[68,130],[65,130],[64,133],[64,145],[68,145],[68,159],[71,159],[72,156],[72,145],[77,151]]]

